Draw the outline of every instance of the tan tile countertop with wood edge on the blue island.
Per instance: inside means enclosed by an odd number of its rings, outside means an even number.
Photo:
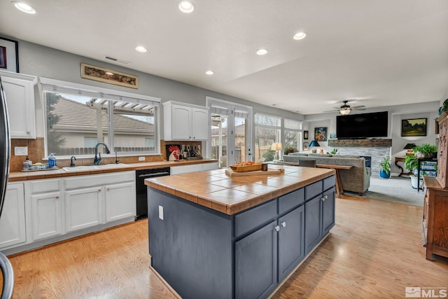
[[[146,179],[146,186],[232,215],[334,175],[334,169],[269,165],[284,174],[228,176],[225,169]]]

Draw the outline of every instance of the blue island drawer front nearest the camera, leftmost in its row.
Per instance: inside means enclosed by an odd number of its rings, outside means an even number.
[[[258,207],[235,216],[235,237],[243,235],[253,228],[257,228],[263,223],[272,221],[277,215],[277,200],[271,200]]]

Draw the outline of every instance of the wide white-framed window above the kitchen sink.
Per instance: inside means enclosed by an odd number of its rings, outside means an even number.
[[[93,155],[104,142],[111,153],[160,153],[160,99],[41,78],[45,99],[45,155]],[[104,147],[99,152],[105,154]]]

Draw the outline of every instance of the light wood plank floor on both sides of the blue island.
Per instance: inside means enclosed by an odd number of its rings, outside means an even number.
[[[448,287],[448,259],[425,259],[421,207],[344,196],[336,225],[272,298],[404,298]],[[10,256],[13,298],[174,298],[149,269],[148,221]]]

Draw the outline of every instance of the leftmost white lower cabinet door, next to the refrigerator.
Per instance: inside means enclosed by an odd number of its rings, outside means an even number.
[[[8,183],[0,217],[0,248],[27,242],[23,183]]]

